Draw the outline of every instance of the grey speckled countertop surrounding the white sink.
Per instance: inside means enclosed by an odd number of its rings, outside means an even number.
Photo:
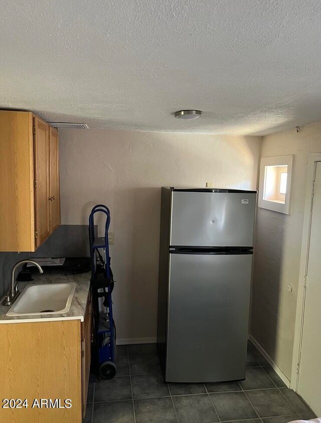
[[[35,321],[53,321],[53,320],[84,320],[84,314],[87,304],[87,296],[90,287],[90,272],[79,273],[74,275],[65,275],[63,271],[48,270],[44,267],[44,273],[40,274],[35,271],[30,282],[19,282],[18,288],[22,292],[26,285],[30,284],[56,284],[60,282],[75,282],[76,290],[72,299],[70,310],[63,314],[42,314],[42,315],[24,315],[24,316],[7,316],[11,306],[3,306],[0,304],[0,324],[1,323],[26,323]]]

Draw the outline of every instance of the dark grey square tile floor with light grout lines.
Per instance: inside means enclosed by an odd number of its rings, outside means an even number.
[[[117,376],[89,384],[86,422],[286,423],[315,415],[249,343],[246,379],[165,383],[155,344],[117,347]]]

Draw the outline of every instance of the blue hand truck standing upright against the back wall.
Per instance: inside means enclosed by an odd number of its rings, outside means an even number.
[[[106,216],[105,236],[95,236],[94,215]],[[116,327],[112,315],[111,293],[114,279],[110,267],[108,229],[110,211],[97,204],[89,215],[89,245],[91,261],[91,289],[94,309],[93,365],[101,379],[111,379],[116,374]],[[102,302],[102,304],[100,304]]]

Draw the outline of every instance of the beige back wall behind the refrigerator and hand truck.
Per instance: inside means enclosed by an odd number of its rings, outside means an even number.
[[[161,186],[256,189],[261,137],[61,130],[63,224],[111,210],[118,339],[156,336]]]

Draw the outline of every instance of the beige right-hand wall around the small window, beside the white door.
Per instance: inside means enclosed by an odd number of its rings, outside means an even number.
[[[321,122],[263,137],[262,157],[294,155],[290,214],[258,209],[251,335],[291,377],[309,152],[321,152]],[[293,286],[289,293],[286,285]]]

